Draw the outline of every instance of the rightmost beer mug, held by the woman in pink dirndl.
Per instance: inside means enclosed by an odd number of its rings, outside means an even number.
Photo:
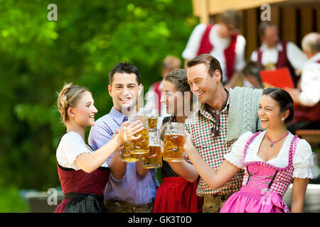
[[[167,162],[183,161],[184,123],[169,122],[164,133],[164,153],[162,158]]]

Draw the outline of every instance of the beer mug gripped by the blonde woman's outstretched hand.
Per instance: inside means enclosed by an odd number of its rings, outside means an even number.
[[[132,140],[132,148],[130,153],[134,155],[149,153],[149,135],[148,135],[148,121],[144,115],[129,116],[130,123],[140,120],[144,124],[144,130],[135,134],[134,136],[142,135],[138,140]]]

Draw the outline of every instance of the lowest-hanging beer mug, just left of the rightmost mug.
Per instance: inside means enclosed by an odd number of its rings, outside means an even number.
[[[142,167],[145,169],[162,167],[161,140],[159,129],[149,128],[149,153],[142,155]]]

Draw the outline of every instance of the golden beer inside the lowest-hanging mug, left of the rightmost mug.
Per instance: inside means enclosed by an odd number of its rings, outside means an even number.
[[[162,167],[162,153],[160,146],[149,146],[149,153],[142,156],[142,167],[145,169]]]

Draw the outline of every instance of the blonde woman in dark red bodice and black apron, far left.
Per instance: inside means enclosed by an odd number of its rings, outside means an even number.
[[[84,87],[65,84],[58,94],[58,111],[67,128],[56,151],[58,175],[64,199],[55,213],[107,212],[103,204],[103,190],[109,179],[109,170],[101,165],[114,151],[129,140],[137,140],[134,134],[143,130],[142,123],[122,123],[119,134],[102,148],[93,150],[85,143],[85,128],[95,125],[92,94]]]

